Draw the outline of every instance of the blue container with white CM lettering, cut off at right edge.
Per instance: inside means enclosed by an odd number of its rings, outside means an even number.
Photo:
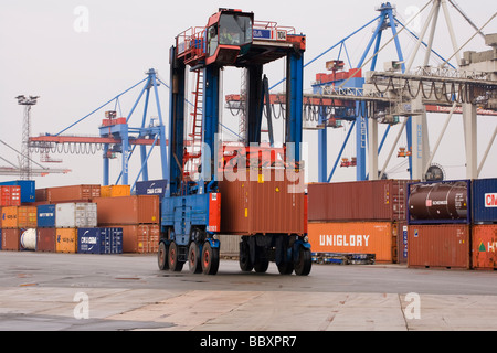
[[[473,222],[497,223],[497,179],[473,181]]]

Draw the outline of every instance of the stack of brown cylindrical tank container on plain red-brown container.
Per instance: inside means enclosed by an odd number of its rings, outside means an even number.
[[[470,180],[409,188],[409,267],[469,269]]]

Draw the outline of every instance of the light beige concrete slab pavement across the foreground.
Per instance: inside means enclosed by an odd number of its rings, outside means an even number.
[[[0,330],[495,331],[497,296],[33,286],[2,288]]]

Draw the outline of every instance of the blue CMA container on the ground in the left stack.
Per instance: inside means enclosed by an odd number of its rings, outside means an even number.
[[[77,253],[123,254],[123,228],[78,228]]]

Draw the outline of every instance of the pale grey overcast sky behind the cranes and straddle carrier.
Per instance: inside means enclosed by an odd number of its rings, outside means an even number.
[[[474,0],[457,1],[464,12],[478,26],[488,21],[497,10],[495,1]],[[416,9],[423,8],[426,1],[392,1],[396,6],[399,19],[406,20]],[[14,99],[18,95],[41,96],[32,110],[31,136],[40,133],[57,133],[72,122],[86,116],[105,101],[145,78],[145,72],[156,68],[160,78],[169,84],[168,50],[175,43],[175,36],[190,26],[203,26],[208,18],[218,8],[239,8],[253,11],[260,21],[276,21],[281,25],[294,26],[298,33],[307,36],[305,62],[309,62],[341,39],[346,38],[363,24],[374,19],[381,4],[366,1],[200,1],[171,2],[160,0],[141,1],[96,1],[96,0],[2,0],[0,4],[0,140],[17,149],[21,149],[22,108]],[[412,30],[419,31],[427,17],[425,10],[420,21],[414,21]],[[458,44],[462,45],[474,34],[468,23],[450,6]],[[356,34],[347,42],[347,51],[357,64],[360,55],[371,38],[376,23]],[[487,25],[485,33],[497,33],[497,20]],[[391,39],[388,33],[383,43]],[[404,56],[408,56],[414,40],[408,35],[400,36]],[[441,15],[436,33],[435,49],[444,56],[453,54],[445,20]],[[476,36],[463,51],[488,50],[480,36]],[[378,61],[394,60],[394,49],[385,49]],[[424,54],[424,52],[423,52]],[[420,54],[422,60],[423,54]],[[343,55],[343,54],[342,54]],[[317,73],[326,72],[325,63],[338,56],[338,49],[329,52],[305,69],[305,92],[311,90],[311,82]],[[419,62],[419,61],[416,61]],[[452,61],[454,63],[454,61]],[[434,61],[434,65],[440,61]],[[282,63],[275,63],[267,71],[271,83],[283,78]],[[225,71],[224,94],[237,93],[240,89],[240,72]],[[276,88],[277,90],[277,88]],[[168,116],[168,89],[160,87],[162,113]],[[127,115],[139,90],[133,90],[123,97],[120,108]],[[83,124],[66,131],[72,135],[98,135],[98,125],[108,106],[93,115]],[[155,110],[150,111],[154,116]],[[135,124],[139,125],[140,118]],[[445,115],[429,115],[430,139],[433,147],[443,125]],[[237,121],[228,113],[223,114],[223,124],[236,130]],[[497,117],[478,118],[478,158],[488,145],[491,132],[497,125]],[[450,132],[444,137],[441,150],[434,162],[442,164],[448,179],[465,178],[464,136],[462,117],[455,116]],[[329,169],[331,169],[343,138],[346,128],[329,131]],[[380,133],[384,127],[380,128]],[[226,138],[233,138],[226,132]],[[394,139],[395,127],[385,145]],[[317,181],[316,147],[317,132],[306,131],[305,141],[309,147],[309,181]],[[390,141],[390,142],[389,142]],[[346,148],[345,157],[355,156],[355,140]],[[400,146],[405,146],[402,138]],[[134,160],[138,160],[136,153]],[[154,153],[152,161],[160,164],[159,150]],[[0,156],[18,163],[18,156],[0,145]],[[102,183],[102,156],[52,154],[62,159],[61,164],[44,164],[51,168],[67,168],[72,172],[66,175],[52,174],[35,178],[38,188]],[[33,154],[40,161],[39,154]],[[110,182],[115,182],[119,171],[120,158],[112,162]],[[380,156],[382,167],[384,156]],[[497,143],[494,145],[480,178],[497,176]],[[130,182],[136,179],[139,162],[133,162]],[[6,165],[3,161],[0,165]],[[135,165],[135,167],[133,167]],[[150,168],[150,179],[160,179],[160,168]],[[398,159],[396,152],[387,169],[391,178],[408,178],[405,160]],[[1,176],[0,181],[17,179]],[[337,180],[353,180],[353,169],[340,169],[334,176]]]

